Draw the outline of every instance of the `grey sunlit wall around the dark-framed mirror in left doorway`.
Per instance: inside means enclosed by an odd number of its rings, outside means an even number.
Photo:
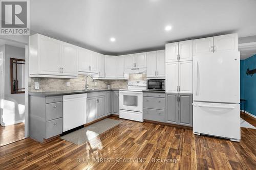
[[[3,123],[14,124],[24,120],[25,93],[11,94],[10,58],[25,59],[25,48],[5,45],[5,97],[3,109]]]

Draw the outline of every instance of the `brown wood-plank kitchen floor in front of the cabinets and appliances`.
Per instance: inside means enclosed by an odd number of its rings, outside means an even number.
[[[255,169],[255,149],[254,129],[242,128],[241,142],[231,142],[124,120],[81,145],[60,138],[44,144],[30,138],[11,143],[0,148],[0,169]]]

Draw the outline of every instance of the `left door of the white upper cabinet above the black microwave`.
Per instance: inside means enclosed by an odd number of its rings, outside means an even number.
[[[157,71],[157,52],[147,52],[146,77],[156,77]]]

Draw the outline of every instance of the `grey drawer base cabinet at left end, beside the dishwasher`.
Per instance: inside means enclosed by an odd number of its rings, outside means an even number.
[[[62,95],[29,96],[30,137],[39,142],[62,133]]]

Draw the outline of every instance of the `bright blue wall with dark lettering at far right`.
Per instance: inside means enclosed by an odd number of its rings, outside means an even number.
[[[256,68],[256,55],[240,61],[240,95],[245,99],[245,110],[256,115],[256,74],[246,75],[247,68]]]

